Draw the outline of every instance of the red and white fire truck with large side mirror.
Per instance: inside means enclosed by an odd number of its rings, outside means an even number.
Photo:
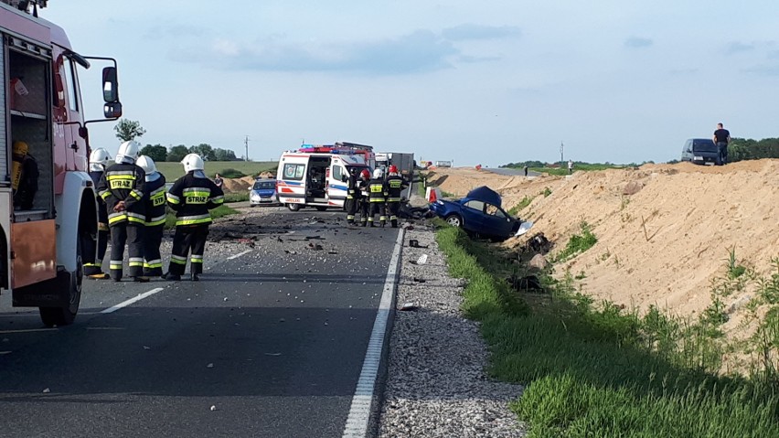
[[[122,115],[116,61],[84,57],[61,27],[38,17],[47,0],[0,0],[0,289],[43,323],[73,322],[81,297],[82,242],[97,233],[87,173],[87,123]],[[105,118],[85,121],[79,69],[98,59]],[[98,84],[95,84],[95,88]]]

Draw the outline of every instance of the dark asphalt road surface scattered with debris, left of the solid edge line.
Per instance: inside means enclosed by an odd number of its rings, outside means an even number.
[[[72,326],[3,295],[0,435],[341,436],[398,237],[342,220],[230,220],[201,282],[89,279]]]

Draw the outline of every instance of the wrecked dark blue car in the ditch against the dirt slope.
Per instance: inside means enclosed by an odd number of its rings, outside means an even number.
[[[490,240],[507,240],[519,230],[520,219],[513,218],[503,208],[495,190],[476,187],[465,198],[448,201],[436,199],[430,209],[453,227],[462,227],[469,234]]]

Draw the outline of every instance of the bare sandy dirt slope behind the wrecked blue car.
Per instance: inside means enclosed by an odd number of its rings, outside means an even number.
[[[531,179],[464,168],[436,175],[446,176],[443,191],[458,196],[481,185],[496,188],[506,209],[537,196],[518,215],[535,222],[529,234],[544,232],[557,250],[582,221],[589,223],[598,242],[558,272],[583,272],[584,293],[626,306],[658,304],[695,315],[710,304],[710,281],[725,274],[729,249],[763,274],[779,255],[779,160],[646,165]],[[635,194],[624,194],[628,186]],[[551,194],[539,195],[546,187]],[[748,294],[733,294],[726,304],[743,303]]]

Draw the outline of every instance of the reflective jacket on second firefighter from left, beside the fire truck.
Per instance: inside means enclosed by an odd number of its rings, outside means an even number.
[[[98,194],[105,201],[108,224],[128,221],[144,225],[146,206],[144,200],[144,178],[146,173],[133,163],[109,166],[98,183]],[[113,211],[119,201],[124,201],[122,211]]]

